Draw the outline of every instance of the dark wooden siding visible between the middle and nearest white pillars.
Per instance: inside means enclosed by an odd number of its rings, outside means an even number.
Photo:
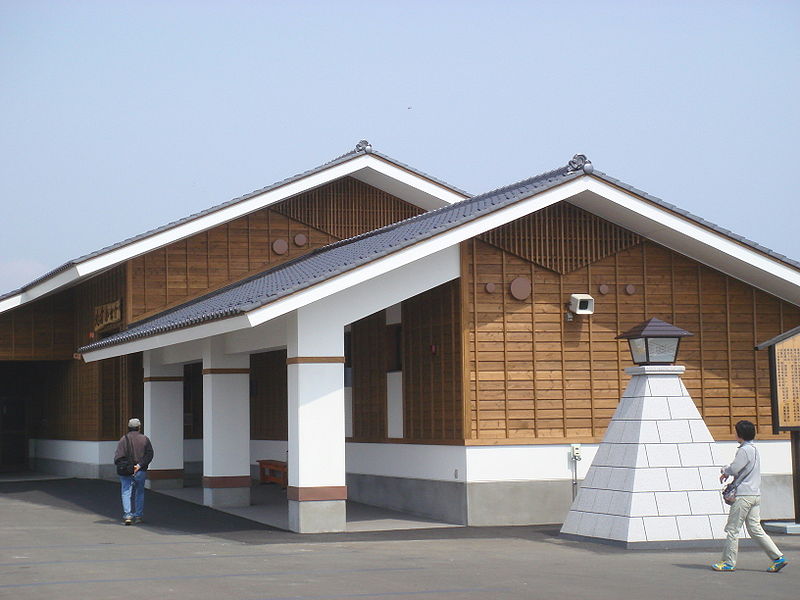
[[[250,356],[250,437],[286,440],[289,436],[286,350]]]

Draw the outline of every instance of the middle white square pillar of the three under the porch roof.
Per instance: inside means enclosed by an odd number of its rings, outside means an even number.
[[[203,346],[203,504],[250,506],[250,356]]]

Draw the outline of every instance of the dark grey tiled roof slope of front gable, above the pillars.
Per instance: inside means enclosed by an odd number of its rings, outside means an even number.
[[[80,348],[109,346],[244,314],[377,258],[463,225],[579,175],[562,167],[381,229],[330,244]]]

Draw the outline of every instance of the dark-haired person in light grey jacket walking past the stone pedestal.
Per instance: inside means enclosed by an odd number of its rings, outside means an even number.
[[[758,449],[753,444],[755,437],[756,427],[750,421],[739,421],[736,424],[739,449],[736,451],[733,462],[722,469],[719,477],[720,483],[723,483],[728,477],[734,478],[736,500],[731,505],[728,523],[725,525],[727,538],[722,551],[722,560],[711,565],[715,571],[736,569],[739,531],[742,529],[743,523],[747,527],[750,537],[772,559],[772,564],[767,569],[769,572],[777,573],[787,565],[786,558],[761,527],[761,459],[758,456]]]

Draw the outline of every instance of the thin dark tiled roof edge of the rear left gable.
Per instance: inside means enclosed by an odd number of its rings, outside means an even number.
[[[195,213],[193,215],[189,215],[188,217],[184,217],[182,219],[178,219],[177,221],[173,221],[171,223],[167,223],[166,225],[162,225],[161,227],[157,227],[155,229],[151,229],[150,231],[146,231],[144,233],[141,233],[141,234],[136,235],[134,237],[128,238],[128,239],[123,240],[121,242],[117,242],[116,244],[112,244],[111,246],[106,246],[105,248],[101,248],[100,250],[97,250],[95,252],[91,252],[91,253],[86,254],[84,256],[81,256],[79,258],[75,258],[75,259],[72,259],[72,260],[70,260],[68,262],[65,262],[63,265],[61,265],[59,267],[56,267],[52,271],[48,271],[47,273],[45,273],[41,277],[37,277],[36,279],[31,281],[30,283],[27,283],[26,285],[22,286],[21,288],[18,288],[16,290],[11,291],[11,292],[7,292],[5,294],[0,294],[0,300],[5,300],[6,298],[10,298],[11,296],[15,296],[15,295],[17,295],[17,294],[19,294],[21,292],[24,292],[25,290],[30,289],[30,288],[34,287],[35,285],[37,285],[39,283],[42,283],[43,281],[46,281],[47,279],[50,279],[51,277],[54,277],[55,275],[58,275],[59,273],[62,273],[64,271],[70,269],[71,267],[73,267],[73,266],[75,266],[77,264],[80,264],[82,262],[85,262],[85,261],[87,261],[89,259],[95,258],[97,256],[101,256],[103,254],[111,252],[112,250],[116,250],[118,248],[122,248],[122,247],[127,246],[129,244],[132,244],[134,242],[138,242],[139,240],[143,240],[145,238],[151,237],[153,235],[161,233],[162,231],[167,231],[169,229],[172,229],[172,228],[177,227],[179,225],[182,225],[184,223],[188,223],[189,221],[194,221],[195,219],[199,219],[200,217],[204,217],[204,216],[206,216],[208,214],[217,212],[217,211],[219,211],[219,210],[221,210],[223,208],[226,208],[228,206],[231,206],[231,205],[234,205],[234,204],[238,204],[239,202],[243,202],[245,200],[249,200],[250,198],[253,198],[253,197],[258,196],[260,194],[263,194],[265,192],[269,192],[271,190],[274,190],[276,188],[282,187],[282,186],[287,185],[289,183],[293,183],[293,182],[298,181],[300,179],[303,179],[305,177],[309,177],[310,175],[314,175],[315,173],[318,173],[320,171],[324,171],[325,169],[329,169],[329,168],[334,167],[336,165],[345,163],[348,160],[351,160],[351,159],[353,159],[353,158],[355,158],[355,157],[357,157],[359,155],[373,154],[373,155],[378,156],[378,157],[380,157],[380,158],[382,158],[382,159],[384,159],[384,160],[386,160],[386,161],[388,161],[388,162],[390,162],[390,163],[392,163],[392,164],[394,164],[394,165],[396,165],[398,167],[401,167],[403,169],[406,169],[408,171],[416,173],[420,177],[423,177],[425,179],[433,181],[434,183],[437,183],[437,184],[439,184],[439,185],[441,185],[443,187],[451,189],[451,190],[453,190],[453,191],[455,191],[455,192],[457,192],[459,194],[462,194],[464,196],[471,196],[472,195],[472,194],[470,194],[468,192],[465,192],[465,191],[463,191],[463,190],[461,190],[461,189],[459,189],[459,188],[457,188],[457,187],[455,187],[453,185],[450,185],[449,183],[445,183],[444,181],[442,181],[440,179],[436,179],[435,177],[432,177],[431,175],[428,175],[426,173],[423,173],[422,171],[419,171],[419,170],[417,170],[417,169],[415,169],[413,167],[410,167],[409,165],[407,165],[405,163],[402,163],[402,162],[397,161],[397,160],[395,160],[395,159],[393,159],[393,158],[391,158],[389,156],[386,156],[385,154],[382,154],[380,152],[376,152],[375,150],[372,149],[372,146],[370,146],[369,144],[366,144],[366,145],[363,145],[363,144],[364,144],[364,142],[361,142],[356,147],[357,148],[356,150],[351,150],[350,152],[342,154],[341,156],[338,156],[335,159],[333,159],[331,161],[328,161],[328,162],[326,162],[326,163],[324,163],[324,164],[322,164],[322,165],[320,165],[318,167],[315,167],[313,169],[309,169],[308,171],[304,171],[302,173],[298,173],[297,175],[294,175],[292,177],[288,177],[288,178],[283,179],[281,181],[277,181],[277,182],[275,182],[275,183],[273,183],[271,185],[268,185],[267,187],[261,188],[259,190],[255,190],[253,192],[250,192],[249,194],[245,194],[244,196],[239,196],[238,198],[233,198],[232,200],[228,200],[227,202],[223,202],[222,204],[217,204],[216,206],[212,206],[211,208],[208,208],[206,210],[200,211],[200,212]]]

